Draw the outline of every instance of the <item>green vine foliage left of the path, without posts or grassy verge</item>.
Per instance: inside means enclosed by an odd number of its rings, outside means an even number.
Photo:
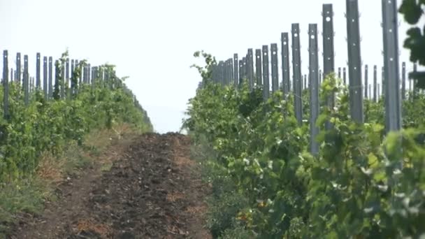
[[[78,67],[83,64],[82,61]],[[104,68],[113,72],[111,66]],[[74,74],[71,81],[77,82],[77,78],[78,74]],[[134,102],[122,79],[111,76],[107,81],[95,81],[95,85],[75,84],[74,88],[65,89],[78,92],[67,99],[58,99],[54,94],[57,99],[45,101],[42,92],[36,90],[31,93],[29,106],[24,104],[22,87],[10,84],[8,119],[0,119],[0,181],[33,173],[41,154],[60,154],[70,141],[81,144],[83,136],[94,129],[129,123],[140,131],[152,131],[149,118]],[[55,88],[58,92],[59,88]],[[2,87],[0,97],[3,99]]]

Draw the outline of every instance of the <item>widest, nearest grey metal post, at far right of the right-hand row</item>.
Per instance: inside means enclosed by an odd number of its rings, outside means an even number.
[[[401,129],[401,97],[398,64],[398,6],[396,0],[382,0],[384,35],[385,118],[388,131]]]

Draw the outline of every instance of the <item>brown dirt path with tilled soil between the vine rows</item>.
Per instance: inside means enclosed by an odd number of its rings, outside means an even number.
[[[208,189],[189,159],[189,138],[147,133],[110,171],[88,168],[59,189],[59,201],[10,238],[211,238],[203,229]]]

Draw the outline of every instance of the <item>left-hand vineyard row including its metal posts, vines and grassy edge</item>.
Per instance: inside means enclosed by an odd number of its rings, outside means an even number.
[[[138,132],[153,130],[145,110],[127,89],[124,79],[115,75],[113,66],[99,66],[99,71],[108,74],[108,78],[97,74],[89,82],[87,63],[80,61],[73,66],[69,77],[69,65],[65,67],[68,53],[65,52],[56,61],[54,84],[52,73],[48,84],[45,67],[45,84],[41,88],[39,73],[36,84],[29,80],[27,57],[22,80],[21,74],[9,80],[7,53],[3,55],[0,88],[3,99],[0,111],[4,115],[0,119],[0,238],[13,222],[15,213],[33,212],[43,201],[43,195],[36,197],[35,182],[46,155],[56,160],[54,164],[59,164],[75,148],[73,145],[89,147],[90,133],[103,129],[113,131],[123,124]],[[86,71],[82,71],[83,68]],[[29,194],[28,198],[24,198],[25,194]]]

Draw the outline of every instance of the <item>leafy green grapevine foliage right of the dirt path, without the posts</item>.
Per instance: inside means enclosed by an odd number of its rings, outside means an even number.
[[[199,68],[204,80],[189,101],[184,127],[195,145],[214,150],[204,155],[203,165],[213,191],[224,187],[209,205],[215,238],[237,232],[256,238],[425,236],[423,94],[408,96],[405,128],[387,135],[382,99],[366,100],[366,123],[356,124],[347,88],[329,75],[321,85],[316,122],[320,152],[313,156],[309,110],[298,125],[292,95],[283,100],[275,92],[263,102],[261,88],[213,84],[207,79],[214,59],[206,56],[207,66]],[[335,108],[326,107],[331,93]],[[328,120],[334,127],[326,131]],[[402,151],[396,147],[400,137]]]

